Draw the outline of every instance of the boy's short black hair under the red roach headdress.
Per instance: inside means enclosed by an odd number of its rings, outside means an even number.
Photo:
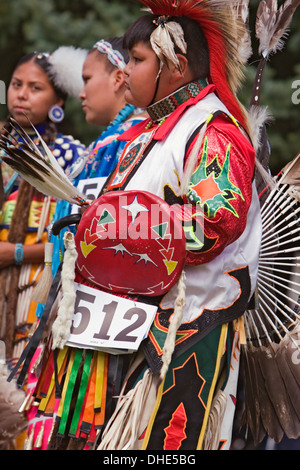
[[[156,19],[157,15],[153,14],[138,18],[126,31],[123,47],[130,50],[138,42],[146,43],[151,47],[150,36],[157,27],[153,22]],[[187,53],[185,56],[194,78],[206,78],[209,75],[209,49],[199,24],[183,16],[170,17],[169,21],[179,23],[183,29],[184,39],[187,43]],[[175,47],[175,52],[179,53],[180,51]]]

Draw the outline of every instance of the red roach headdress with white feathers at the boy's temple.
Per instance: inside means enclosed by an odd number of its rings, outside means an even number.
[[[151,12],[159,18],[184,16],[199,24],[209,48],[210,76],[208,78],[216,86],[218,96],[232,115],[241,124],[246,125],[245,111],[236,93],[243,77],[242,66],[245,62],[239,43],[241,38],[248,33],[243,16],[237,15],[236,9],[248,2],[225,2],[224,0],[140,0],[140,2],[150,8]],[[171,23],[176,24],[176,21],[172,19]],[[182,52],[185,47],[183,35],[178,32],[178,29],[181,29],[180,25],[177,25],[179,28],[174,28],[172,25],[168,28],[167,25],[166,20],[158,21],[157,29],[150,39],[154,52],[161,61],[162,56],[165,56],[165,62],[172,61],[171,54],[169,54],[171,47],[167,46],[172,38],[177,46],[181,44]]]

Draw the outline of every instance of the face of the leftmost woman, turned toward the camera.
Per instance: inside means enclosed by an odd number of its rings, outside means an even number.
[[[28,119],[35,126],[45,122],[54,104],[62,106],[63,100],[57,97],[43,69],[33,60],[17,67],[8,87],[7,106],[19,124],[28,128]]]

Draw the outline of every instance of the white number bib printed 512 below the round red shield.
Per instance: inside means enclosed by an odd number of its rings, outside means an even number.
[[[75,283],[68,346],[111,354],[136,351],[148,335],[157,307]]]

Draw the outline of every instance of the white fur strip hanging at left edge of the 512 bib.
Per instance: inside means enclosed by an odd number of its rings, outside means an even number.
[[[77,251],[72,232],[65,233],[64,243],[66,251],[61,273],[62,299],[58,306],[57,317],[52,325],[52,349],[63,349],[68,340],[76,297],[74,279]]]

